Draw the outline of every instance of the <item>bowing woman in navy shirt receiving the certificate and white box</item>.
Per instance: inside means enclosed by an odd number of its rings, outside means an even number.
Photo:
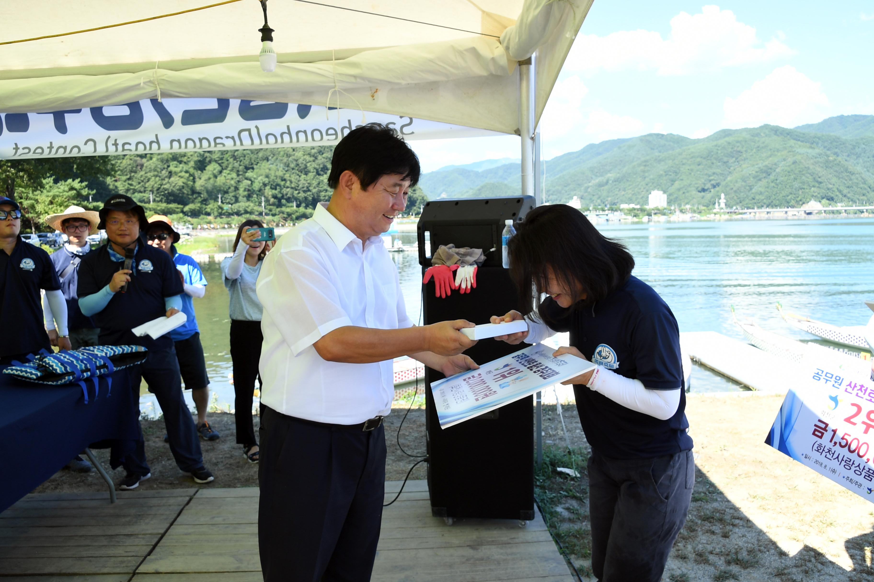
[[[570,206],[532,210],[509,251],[522,312],[491,321],[524,318],[528,331],[496,339],[535,344],[570,332],[571,346],[555,355],[598,365],[564,382],[573,385],[592,447],[586,469],[593,572],[602,582],[656,582],[695,483],[676,318],[631,275],[628,250]]]

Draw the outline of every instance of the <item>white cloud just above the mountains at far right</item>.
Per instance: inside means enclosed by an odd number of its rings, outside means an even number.
[[[786,65],[756,81],[736,99],[725,98],[725,127],[759,127],[769,123],[795,127],[827,116],[829,98],[817,83]]]

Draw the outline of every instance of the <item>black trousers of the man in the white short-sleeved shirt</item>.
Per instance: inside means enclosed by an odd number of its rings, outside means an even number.
[[[265,582],[366,582],[385,496],[385,428],[261,407],[258,543]]]

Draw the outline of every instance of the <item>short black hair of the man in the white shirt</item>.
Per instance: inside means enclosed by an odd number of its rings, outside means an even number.
[[[346,170],[356,175],[361,188],[370,188],[380,176],[400,174],[412,188],[419,182],[419,158],[393,127],[368,123],[356,127],[334,148],[328,186],[336,188]]]

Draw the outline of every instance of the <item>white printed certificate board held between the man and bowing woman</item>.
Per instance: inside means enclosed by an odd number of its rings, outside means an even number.
[[[431,383],[440,428],[485,414],[505,404],[593,370],[585,359],[537,344],[482,364],[478,370]]]

